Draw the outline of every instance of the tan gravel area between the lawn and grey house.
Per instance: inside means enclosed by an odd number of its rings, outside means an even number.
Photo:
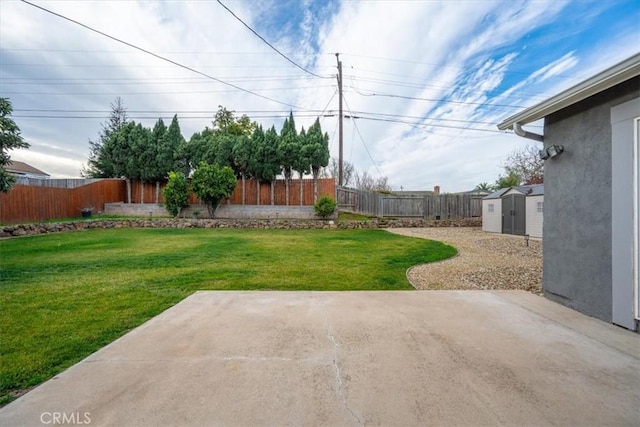
[[[448,260],[411,267],[416,289],[522,289],[542,294],[542,241],[480,228],[394,228],[391,233],[438,240],[458,249]]]

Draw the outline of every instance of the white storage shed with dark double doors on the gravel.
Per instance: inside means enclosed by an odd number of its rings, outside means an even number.
[[[503,188],[482,199],[482,230],[542,238],[544,185]]]

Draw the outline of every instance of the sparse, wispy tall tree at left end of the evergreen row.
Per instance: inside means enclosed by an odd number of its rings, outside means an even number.
[[[111,112],[105,122],[101,124],[102,129],[98,134],[96,141],[89,140],[89,158],[87,166],[80,172],[82,176],[88,178],[114,178],[110,174],[110,170],[103,170],[105,163],[100,161],[102,148],[107,143],[112,134],[122,129],[128,122],[127,109],[124,106],[122,98],[117,97],[110,104]]]

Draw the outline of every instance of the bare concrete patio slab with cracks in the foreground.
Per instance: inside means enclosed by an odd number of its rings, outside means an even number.
[[[198,292],[3,426],[638,425],[640,335],[523,291]]]

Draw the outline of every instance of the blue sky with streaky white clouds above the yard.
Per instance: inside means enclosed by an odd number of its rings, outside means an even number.
[[[214,0],[32,2],[128,45],[1,1],[0,97],[31,145],[12,158],[79,177],[116,97],[147,127],[177,114],[187,140],[218,106],[278,131],[319,117],[337,158],[339,53],[344,160],[467,191],[536,144],[498,123],[640,50],[640,0],[221,2],[262,39]]]

